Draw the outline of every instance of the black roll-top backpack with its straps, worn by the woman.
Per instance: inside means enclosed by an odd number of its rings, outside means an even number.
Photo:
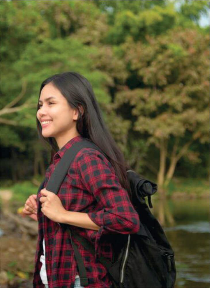
[[[82,148],[93,148],[104,154],[88,139],[74,143],[56,166],[47,183],[47,190],[58,193],[71,162]],[[174,252],[161,225],[144,200],[144,197],[148,196],[149,206],[152,207],[150,197],[157,191],[157,185],[132,170],[128,170],[127,175],[131,186],[131,202],[140,218],[140,230],[129,235],[104,235],[109,237],[112,243],[113,257],[112,262],[104,257],[100,257],[99,261],[107,268],[112,287],[173,287],[176,278]],[[43,188],[43,183],[39,190]],[[65,229],[69,232],[79,267],[81,286],[85,287],[88,285],[88,278],[83,259],[73,239],[76,238],[93,255],[94,245],[71,231],[67,225]]]

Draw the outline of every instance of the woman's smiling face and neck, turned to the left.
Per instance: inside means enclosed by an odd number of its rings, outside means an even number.
[[[52,83],[43,87],[37,111],[43,137],[54,137],[61,148],[71,138],[79,135],[76,130],[77,118],[78,110],[70,107],[66,98]]]

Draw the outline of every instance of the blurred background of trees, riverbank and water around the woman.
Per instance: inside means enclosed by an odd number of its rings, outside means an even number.
[[[209,287],[209,1],[1,1],[1,287],[33,287],[21,206],[50,161],[40,85],[64,71],[91,82],[127,162],[158,183],[175,287]]]

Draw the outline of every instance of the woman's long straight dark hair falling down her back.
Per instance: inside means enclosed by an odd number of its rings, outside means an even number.
[[[108,160],[112,164],[121,185],[130,194],[130,186],[126,175],[128,166],[125,163],[123,154],[106,127],[89,81],[76,72],[56,74],[42,82],[39,97],[43,87],[50,82],[60,90],[71,108],[78,109],[79,116],[76,124],[78,133],[82,137],[90,139],[108,156]],[[81,114],[79,106],[83,107],[83,114]],[[39,103],[37,105],[37,111],[38,109]],[[45,138],[42,136],[42,128],[38,119],[37,130],[39,138],[51,146],[51,155],[56,153],[59,150],[56,140],[53,137]]]

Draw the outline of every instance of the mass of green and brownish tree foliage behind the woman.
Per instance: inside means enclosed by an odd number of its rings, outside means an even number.
[[[40,173],[40,84],[55,73],[77,71],[91,82],[133,168],[148,175],[154,166],[155,177],[161,139],[170,143],[168,166],[177,137],[177,151],[197,143],[180,159],[181,167],[200,167],[209,141],[209,32],[198,19],[208,7],[209,1],[1,1],[5,151],[25,153]],[[49,159],[49,152],[42,153]],[[11,170],[17,162],[7,156],[4,161]]]

